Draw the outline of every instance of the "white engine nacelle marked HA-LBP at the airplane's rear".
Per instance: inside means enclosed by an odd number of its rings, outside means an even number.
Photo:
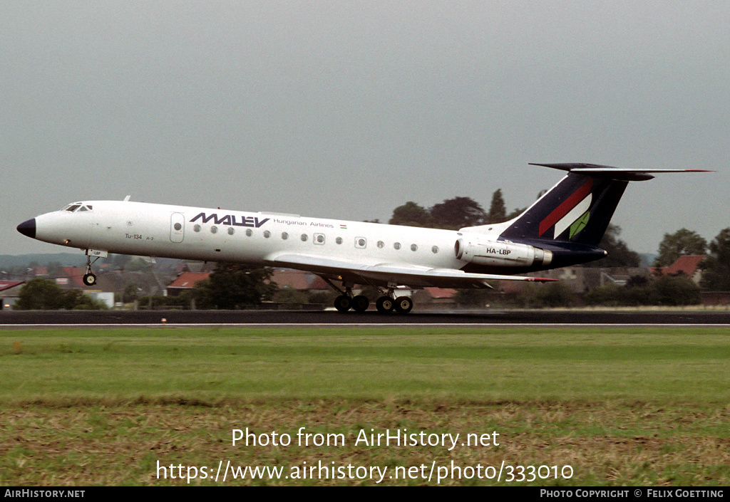
[[[539,247],[514,242],[481,240],[478,236],[464,236],[454,244],[458,260],[491,266],[548,266],[553,252]]]

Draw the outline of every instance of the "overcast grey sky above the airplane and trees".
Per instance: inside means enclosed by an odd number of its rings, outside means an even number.
[[[121,199],[386,221],[562,174],[632,183],[639,252],[730,226],[728,1],[0,0],[0,254],[15,226]]]

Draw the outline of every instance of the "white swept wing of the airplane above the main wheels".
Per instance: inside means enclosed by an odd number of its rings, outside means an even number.
[[[557,279],[514,275],[469,274],[458,269],[430,269],[409,263],[359,263],[300,254],[278,254],[267,258],[270,266],[299,269],[328,277],[342,277],[355,284],[397,284],[411,287],[489,288],[487,281],[552,282]]]

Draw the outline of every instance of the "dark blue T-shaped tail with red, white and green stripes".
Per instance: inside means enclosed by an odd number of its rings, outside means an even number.
[[[568,171],[514,220],[505,223],[500,239],[541,239],[597,246],[630,181],[652,179],[650,173],[694,172],[699,169],[617,169],[584,163],[531,164]]]

